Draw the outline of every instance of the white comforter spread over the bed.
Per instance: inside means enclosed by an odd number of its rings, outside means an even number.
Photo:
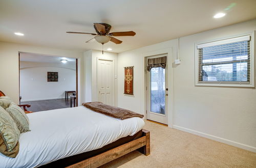
[[[28,114],[30,132],[19,137],[19,153],[10,158],[0,153],[0,167],[35,167],[99,149],[121,137],[134,135],[144,121],[134,117],[111,118],[83,107]]]

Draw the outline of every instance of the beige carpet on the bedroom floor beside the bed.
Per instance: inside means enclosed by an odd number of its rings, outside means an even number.
[[[256,153],[146,121],[151,154],[138,151],[101,167],[256,167]]]

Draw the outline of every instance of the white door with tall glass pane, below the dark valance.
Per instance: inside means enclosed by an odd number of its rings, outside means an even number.
[[[163,57],[163,55],[158,56]],[[158,57],[150,57],[158,58]],[[152,68],[147,71],[147,119],[163,124],[168,124],[167,113],[167,65],[162,67]]]

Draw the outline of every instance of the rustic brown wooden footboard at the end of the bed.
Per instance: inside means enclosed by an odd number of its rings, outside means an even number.
[[[135,150],[142,152],[146,156],[150,154],[150,131],[142,129],[140,138],[68,167],[98,167]]]

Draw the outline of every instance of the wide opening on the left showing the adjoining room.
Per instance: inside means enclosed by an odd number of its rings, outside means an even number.
[[[33,112],[77,106],[77,59],[19,52],[19,101]]]

